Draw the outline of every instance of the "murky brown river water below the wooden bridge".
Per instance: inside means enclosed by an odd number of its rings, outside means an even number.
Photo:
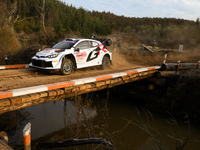
[[[13,113],[26,114],[9,131],[10,143],[14,145],[23,143],[22,130],[30,122],[32,143],[96,137],[110,141],[116,149],[149,150],[158,149],[158,145],[162,149],[175,149],[177,141],[187,137],[190,129],[184,150],[200,149],[199,126],[191,124],[188,128],[188,124],[184,123],[187,120],[178,120],[175,124],[169,114],[152,113],[106,90],[76,100],[59,100]],[[10,123],[12,121],[15,120],[9,120]],[[93,145],[92,149],[96,146]],[[104,148],[99,146],[97,149]]]

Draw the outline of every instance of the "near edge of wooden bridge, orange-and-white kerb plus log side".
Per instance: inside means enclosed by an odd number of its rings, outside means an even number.
[[[13,89],[0,92],[0,114],[41,103],[111,88],[153,76],[160,66],[152,66],[95,77]]]

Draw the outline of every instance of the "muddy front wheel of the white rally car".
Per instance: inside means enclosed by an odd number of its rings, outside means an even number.
[[[70,59],[65,59],[61,65],[61,73],[63,75],[69,75],[74,70],[74,64]]]

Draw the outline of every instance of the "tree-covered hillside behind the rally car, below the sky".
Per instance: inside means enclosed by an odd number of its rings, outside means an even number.
[[[53,45],[65,37],[111,36],[132,45],[196,48],[200,20],[137,18],[88,11],[59,0],[0,0],[0,55],[13,56],[31,45]],[[125,36],[120,36],[125,35]],[[123,39],[124,38],[124,39]]]

